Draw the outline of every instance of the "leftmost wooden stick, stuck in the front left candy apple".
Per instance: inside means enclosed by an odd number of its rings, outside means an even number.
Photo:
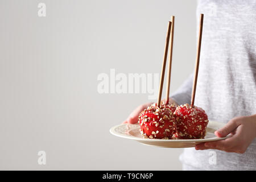
[[[157,102],[158,107],[160,107],[160,104],[161,104],[161,97],[162,97],[162,91],[163,91],[163,81],[164,81],[164,73],[165,73],[165,69],[166,69],[166,60],[167,60],[167,55],[168,55],[168,46],[169,46],[171,26],[172,26],[172,22],[169,22],[168,23],[167,36],[166,36],[166,47],[164,47],[164,58],[163,58],[162,73],[161,73],[160,86],[159,86],[159,92],[158,92],[158,102]]]

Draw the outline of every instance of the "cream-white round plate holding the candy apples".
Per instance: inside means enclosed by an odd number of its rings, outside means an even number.
[[[195,147],[196,144],[226,139],[228,137],[219,138],[214,135],[214,131],[223,127],[225,123],[209,121],[207,125],[207,134],[204,139],[148,139],[143,138],[139,125],[122,124],[114,126],[110,129],[110,133],[117,137],[136,140],[143,144],[166,148],[187,148]]]

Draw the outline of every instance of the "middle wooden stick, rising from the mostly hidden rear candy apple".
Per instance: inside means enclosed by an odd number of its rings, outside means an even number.
[[[174,46],[174,16],[171,17],[172,27],[170,36],[170,53],[168,57],[168,73],[167,73],[167,88],[166,88],[166,104],[169,104],[169,94],[170,94],[170,82],[171,82],[171,70],[172,70],[172,48]]]

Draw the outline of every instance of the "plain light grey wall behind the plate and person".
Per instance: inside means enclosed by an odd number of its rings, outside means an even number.
[[[110,68],[160,73],[171,15],[173,92],[193,71],[196,1],[1,0],[0,169],[181,169],[181,149],[109,133],[147,94],[97,92],[98,74]]]

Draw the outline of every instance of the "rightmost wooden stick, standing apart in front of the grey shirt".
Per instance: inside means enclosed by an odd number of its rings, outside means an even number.
[[[194,82],[193,82],[192,95],[191,95],[191,105],[192,106],[194,106],[195,96],[196,96],[196,83],[197,83],[199,61],[200,61],[203,22],[204,22],[204,14],[201,14],[200,15],[200,24],[199,24],[199,37],[198,37],[198,42],[197,42],[196,67],[195,67],[195,75],[194,75]]]

